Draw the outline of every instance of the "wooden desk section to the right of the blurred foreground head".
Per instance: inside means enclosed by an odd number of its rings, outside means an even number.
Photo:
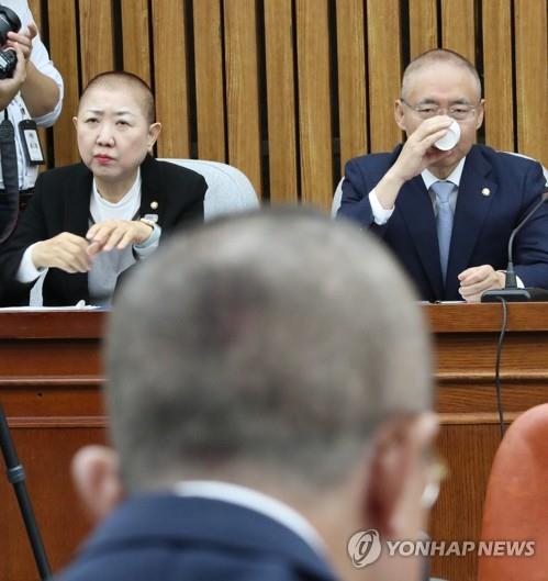
[[[434,507],[430,534],[439,540],[478,539],[487,481],[500,442],[494,387],[501,304],[425,306],[436,351],[439,450],[449,479]],[[501,380],[506,420],[548,402],[548,303],[508,305]],[[476,581],[477,558],[435,557],[433,576]]]

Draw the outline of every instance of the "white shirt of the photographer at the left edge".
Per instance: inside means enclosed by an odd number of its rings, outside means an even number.
[[[0,3],[7,8],[10,8],[18,14],[19,19],[21,20],[21,31],[24,31],[29,23],[34,21],[26,0],[1,0]],[[59,99],[53,111],[49,111],[49,113],[46,113],[45,115],[42,115],[40,118],[34,118],[34,121],[38,126],[48,127],[55,123],[55,121],[60,114],[60,109],[63,104],[63,79],[59,71],[54,67],[52,60],[49,59],[49,55],[47,54],[46,47],[42,43],[40,35],[36,35],[32,41],[31,62],[40,70],[40,72],[53,79],[59,88]],[[11,100],[10,104],[7,107],[7,111],[8,119],[13,123],[13,127],[15,131],[19,189],[27,190],[29,188],[34,187],[34,182],[36,181],[36,178],[38,176],[38,166],[29,166],[24,156],[23,144],[21,142],[21,136],[19,133],[19,123],[23,121],[23,119],[31,119],[31,115],[29,114],[29,111],[20,92],[15,94],[15,97]],[[3,121],[3,119],[4,112],[2,110],[0,111],[0,121]],[[42,147],[44,147],[44,144],[42,144]],[[0,189],[3,189],[1,167]]]

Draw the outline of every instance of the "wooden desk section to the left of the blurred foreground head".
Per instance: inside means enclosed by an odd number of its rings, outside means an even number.
[[[104,317],[102,312],[0,312],[0,402],[54,570],[67,562],[89,528],[72,491],[69,465],[79,447],[104,440]],[[37,579],[19,506],[3,473],[0,579]]]

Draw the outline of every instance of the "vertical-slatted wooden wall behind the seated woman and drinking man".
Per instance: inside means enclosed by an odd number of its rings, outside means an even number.
[[[242,169],[272,203],[326,209],[345,163],[401,139],[401,74],[447,46],[479,68],[479,138],[548,164],[548,0],[30,0],[65,79],[48,163],[78,159],[71,118],[97,72],[152,83],[161,157]]]

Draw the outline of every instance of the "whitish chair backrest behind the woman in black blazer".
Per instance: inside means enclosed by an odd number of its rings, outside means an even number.
[[[259,208],[257,192],[251,182],[233,166],[205,159],[164,158],[163,161],[187,167],[204,177],[208,183],[203,204],[205,221]]]

